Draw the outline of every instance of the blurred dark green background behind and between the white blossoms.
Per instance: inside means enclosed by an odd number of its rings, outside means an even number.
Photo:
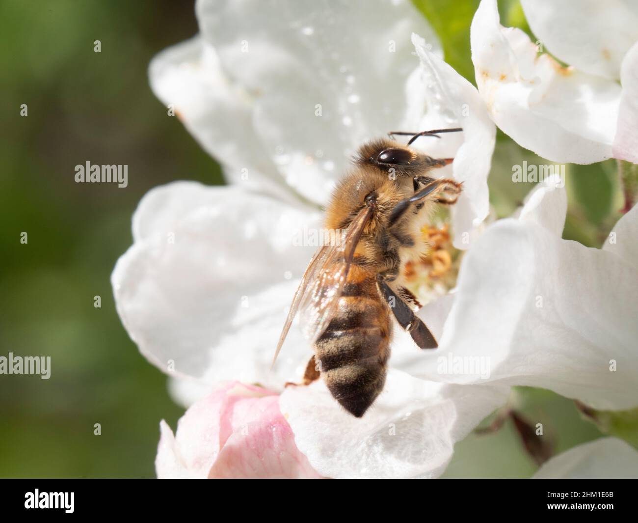
[[[438,31],[446,59],[471,81],[469,28],[478,3],[415,2]],[[517,2],[501,1],[500,9],[503,25],[528,30]],[[175,179],[223,183],[216,162],[167,117],[147,81],[151,57],[195,33],[191,2],[0,4],[0,355],[52,359],[48,380],[0,375],[0,477],[154,477],[159,420],[175,428],[183,412],[168,396],[165,376],[122,328],[109,277],[131,245],[131,216],[145,192]],[[128,187],[75,183],[74,167],[86,160],[127,164]],[[512,165],[523,160],[547,163],[499,133],[490,178],[498,216],[516,209],[532,187],[511,183]],[[600,246],[619,216],[615,164],[567,171],[565,237]],[[97,295],[101,308],[94,308]],[[517,397],[559,451],[600,436],[569,400],[530,389]],[[525,477],[534,470],[508,421],[496,434],[459,444],[445,476]]]

